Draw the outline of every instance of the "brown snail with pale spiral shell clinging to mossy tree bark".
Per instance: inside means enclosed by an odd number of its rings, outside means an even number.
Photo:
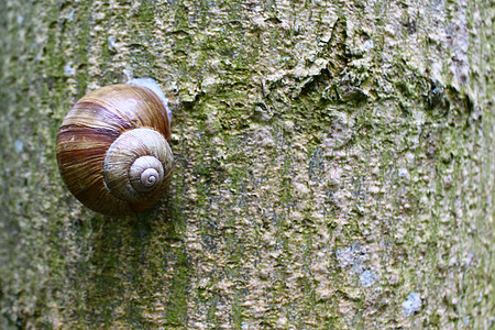
[[[65,185],[86,207],[107,216],[152,208],[167,191],[174,167],[170,122],[167,100],[151,78],[90,91],[57,134]]]

